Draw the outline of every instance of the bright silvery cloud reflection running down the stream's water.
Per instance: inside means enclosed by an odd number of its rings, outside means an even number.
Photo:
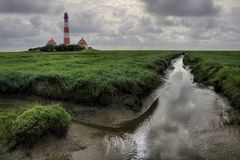
[[[141,158],[182,160],[198,157],[192,149],[187,127],[195,107],[191,76],[183,68],[182,58],[173,65],[175,69],[159,93],[159,107],[133,134]]]

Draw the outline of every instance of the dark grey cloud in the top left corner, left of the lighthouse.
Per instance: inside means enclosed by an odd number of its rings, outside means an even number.
[[[2,13],[59,13],[64,7],[56,0],[0,0]]]

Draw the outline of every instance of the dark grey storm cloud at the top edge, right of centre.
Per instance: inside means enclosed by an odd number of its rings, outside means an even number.
[[[210,16],[219,13],[212,0],[144,0],[147,10],[161,16]]]

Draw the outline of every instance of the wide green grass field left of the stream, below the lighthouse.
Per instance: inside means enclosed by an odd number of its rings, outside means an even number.
[[[176,51],[0,53],[0,93],[109,105],[114,96],[141,97],[156,87],[158,72],[176,55]]]

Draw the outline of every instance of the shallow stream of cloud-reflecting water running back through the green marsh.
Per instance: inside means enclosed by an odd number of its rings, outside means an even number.
[[[183,67],[183,57],[173,66],[157,93],[153,115],[133,133],[107,134],[103,159],[240,159],[239,128],[223,125],[227,101],[211,89],[197,87]]]

